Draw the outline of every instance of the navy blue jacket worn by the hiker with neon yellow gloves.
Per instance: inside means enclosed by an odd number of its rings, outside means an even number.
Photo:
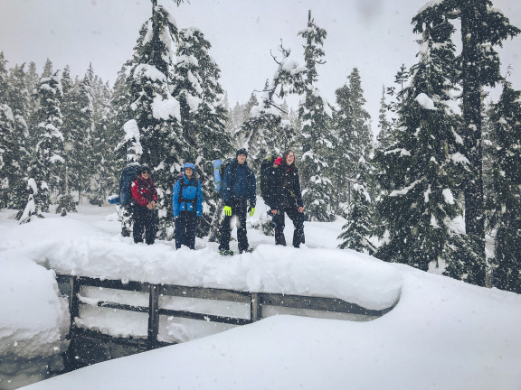
[[[234,179],[232,175],[234,173]],[[232,180],[233,179],[233,180]],[[233,188],[232,188],[233,185]],[[237,160],[232,161],[223,177],[223,201],[229,206],[232,196],[235,198],[249,198],[250,206],[255,207],[257,182],[255,174],[251,171],[248,163],[241,165]]]

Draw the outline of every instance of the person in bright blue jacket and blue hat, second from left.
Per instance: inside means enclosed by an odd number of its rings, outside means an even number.
[[[175,181],[172,209],[175,218],[175,248],[195,249],[197,218],[203,215],[201,181],[195,178],[195,165],[185,163],[183,176]]]

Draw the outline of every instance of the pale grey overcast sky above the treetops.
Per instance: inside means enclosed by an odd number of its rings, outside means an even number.
[[[415,62],[418,45],[412,16],[425,0],[191,0],[179,7],[158,0],[177,27],[197,27],[212,43],[210,54],[222,70],[221,84],[231,105],[261,89],[277,65],[270,51],[280,40],[302,58],[308,10],[327,30],[327,64],[319,66],[317,87],[330,103],[353,68],[358,68],[375,130],[382,86],[393,84],[402,63]],[[521,28],[521,1],[496,0],[510,22]],[[0,0],[0,51],[8,67],[33,60],[42,71],[47,58],[55,69],[71,66],[82,76],[92,63],[110,84],[132,55],[139,28],[151,15],[149,0]],[[521,37],[500,50],[503,73],[521,89]],[[304,62],[301,60],[302,63]]]

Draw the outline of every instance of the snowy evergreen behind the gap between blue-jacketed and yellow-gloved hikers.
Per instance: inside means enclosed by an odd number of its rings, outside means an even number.
[[[223,88],[219,83],[221,70],[208,53],[211,47],[203,32],[194,28],[181,30],[173,80],[173,96],[181,109],[183,138],[188,145],[193,145],[182,155],[185,161],[192,161],[199,168],[204,209],[208,210],[198,226],[200,236],[208,234],[213,214],[220,212],[220,197],[213,190],[211,179],[212,161],[232,151],[232,139],[226,131]]]

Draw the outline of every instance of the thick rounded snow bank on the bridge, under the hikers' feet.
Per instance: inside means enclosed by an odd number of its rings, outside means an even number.
[[[355,251],[258,246],[223,257],[213,244],[190,251],[169,244],[135,245],[128,238],[85,237],[46,241],[24,255],[62,274],[250,292],[340,298],[367,309],[386,309],[400,295],[392,265]]]

